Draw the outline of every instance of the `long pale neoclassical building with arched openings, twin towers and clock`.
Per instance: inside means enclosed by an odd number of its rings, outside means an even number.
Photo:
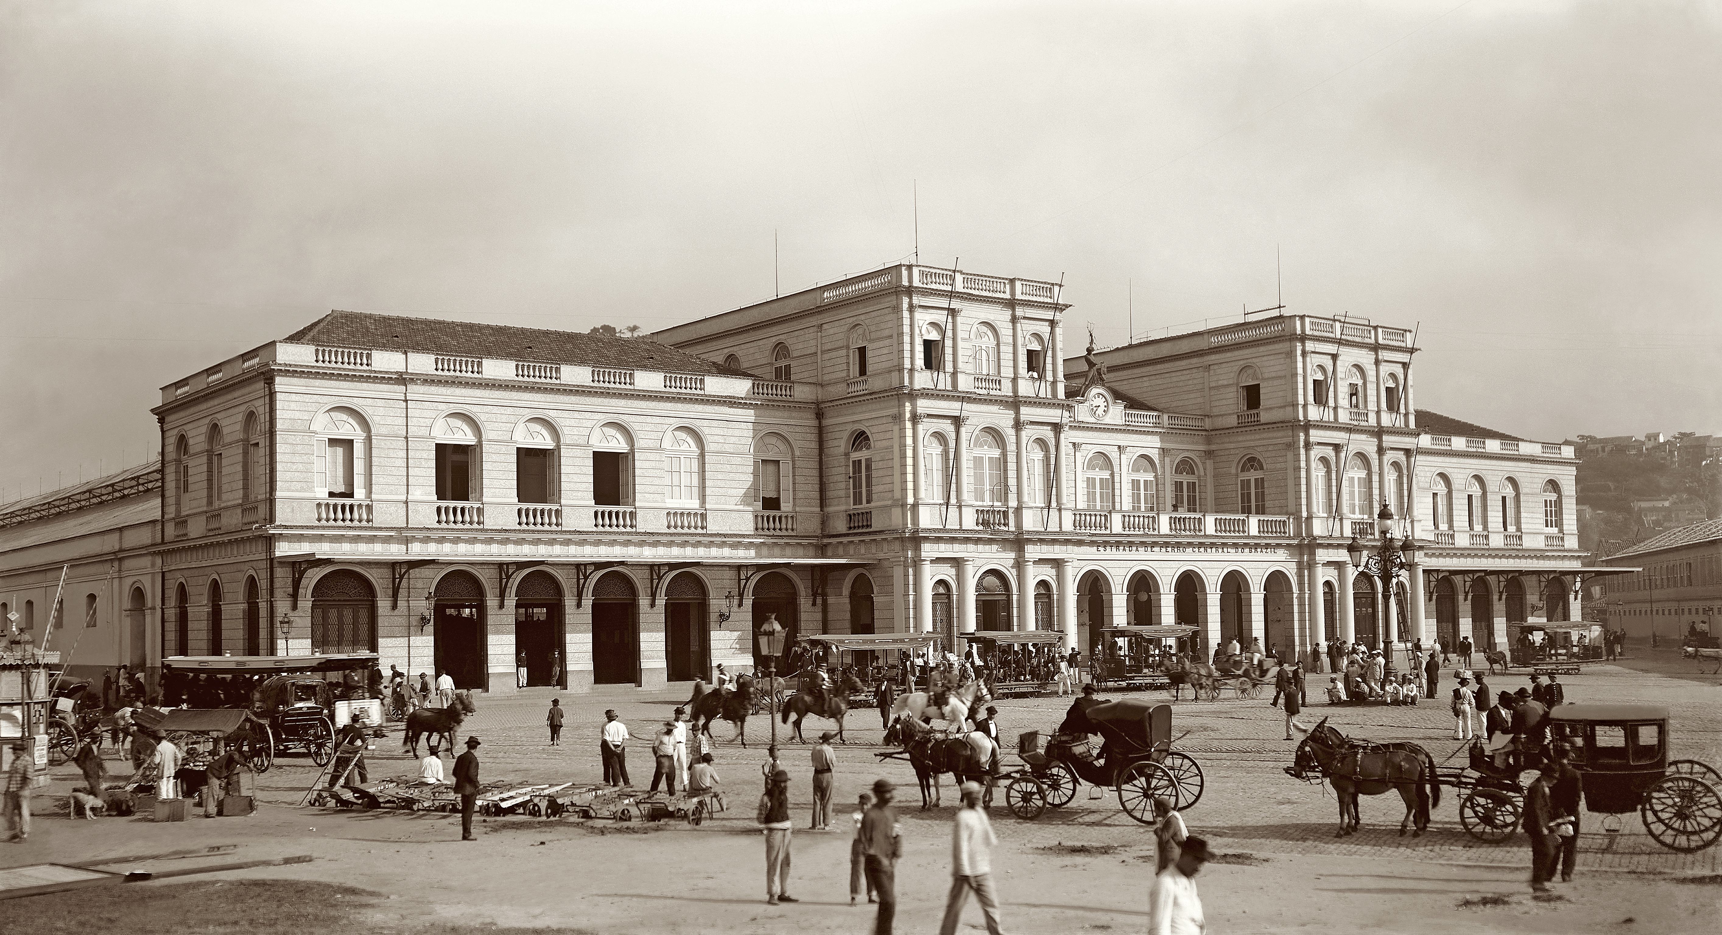
[[[1572,451],[1415,410],[1409,332],[1288,315],[1090,363],[1064,312],[916,265],[653,341],[334,312],[164,387],[162,651],[374,647],[489,690],[523,656],[580,690],[747,668],[766,615],[1085,654],[1577,615]],[[1347,558],[1383,503],[1422,546],[1391,632]]]

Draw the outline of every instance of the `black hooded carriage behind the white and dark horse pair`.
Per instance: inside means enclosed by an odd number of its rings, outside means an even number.
[[[1124,697],[1093,704],[1087,716],[1102,737],[1099,752],[1087,734],[1052,734],[1045,749],[1038,732],[1018,737],[1023,768],[1000,777],[1007,780],[1004,801],[1013,814],[1033,820],[1068,806],[1083,782],[1111,787],[1124,814],[1143,825],[1154,821],[1155,797],[1180,811],[1202,799],[1202,766],[1173,749],[1171,704]]]

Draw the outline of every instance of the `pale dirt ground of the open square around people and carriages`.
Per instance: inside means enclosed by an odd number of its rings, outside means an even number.
[[[1655,665],[1651,665],[1655,663]],[[1679,659],[1608,666],[1562,678],[1569,699],[1653,701],[1676,715],[1676,752],[1717,763],[1722,746],[1719,680],[1689,678]],[[1667,673],[1646,672],[1665,668]],[[1689,666],[1688,666],[1689,668]],[[1677,675],[1672,677],[1670,675]],[[1500,687],[1524,684],[1500,677]],[[1495,685],[1495,680],[1491,680]],[[1577,697],[1576,697],[1577,696]],[[672,696],[563,696],[570,725],[563,747],[541,737],[544,697],[489,699],[468,723],[482,735],[486,778],[523,782],[561,777],[591,782],[598,773],[596,725],[616,708],[635,735],[646,734],[675,704]],[[1045,728],[1064,699],[999,703],[1016,730]],[[1436,756],[1457,747],[1450,718],[1436,706],[1316,706],[1348,734],[1374,739],[1414,737]],[[480,820],[479,840],[460,842],[456,816],[429,813],[358,813],[300,809],[291,801],[313,770],[300,756],[282,758],[262,777],[260,811],[248,818],[193,818],[157,825],[148,820],[69,821],[38,818],[24,845],[0,845],[0,864],[93,863],[129,854],[234,844],[217,858],[167,859],[176,866],[313,856],[293,866],[227,871],[186,880],[124,883],[98,890],[28,897],[0,904],[0,932],[406,932],[460,933],[532,928],[541,932],[870,932],[873,913],[849,906],[849,835],[794,835],[792,892],[802,902],[765,904],[763,840],[753,825],[763,723],[749,721],[753,749],[720,744],[718,770],[732,790],[732,811],[694,828],[530,818]],[[809,727],[815,721],[809,721]],[[1629,818],[1620,833],[1586,827],[1576,883],[1557,883],[1555,901],[1533,901],[1526,885],[1529,851],[1522,835],[1502,845],[1471,842],[1457,827],[1452,801],[1434,813],[1421,839],[1393,833],[1397,797],[1364,804],[1366,833],[1335,840],[1331,794],[1285,777],[1292,744],[1279,740],[1283,718],[1254,701],[1224,699],[1176,706],[1174,723],[1190,730],[1181,749],[1207,770],[1209,790],[1186,813],[1193,833],[1221,854],[1204,868],[1199,887],[1209,932],[1403,932],[1589,933],[1713,932],[1722,911],[1717,849],[1677,856],[1660,851]],[[820,727],[828,727],[820,723]],[[897,870],[899,932],[938,926],[949,885],[949,830],[954,796],[944,808],[920,811],[920,794],[906,765],[878,761],[878,718],[856,711],[846,725],[851,744],[839,747],[839,821],[854,794],[878,775],[894,778],[907,799],[902,811],[906,856]],[[728,739],[727,728],[718,728]],[[412,761],[379,740],[374,775],[401,775]],[[644,744],[630,752],[634,782],[646,785]],[[785,746],[796,775],[797,823],[809,808],[806,747]],[[1722,765],[1722,763],[1719,763]],[[644,775],[642,775],[644,773]],[[72,773],[57,770],[55,789]],[[59,808],[59,796],[38,796],[38,811]],[[1386,799],[1393,799],[1388,802]],[[1078,794],[1068,809],[1019,821],[994,809],[1000,837],[995,880],[1007,932],[1140,932],[1147,925],[1152,837],[1119,814],[1109,794]],[[133,870],[134,864],[115,864]],[[270,907],[281,907],[272,911]],[[188,925],[189,923],[189,925]],[[964,926],[980,926],[971,904]]]

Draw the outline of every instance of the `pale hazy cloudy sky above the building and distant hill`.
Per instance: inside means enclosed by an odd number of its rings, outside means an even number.
[[[1722,3],[0,3],[0,501],[329,308],[647,331],[882,263],[1102,346],[1417,329],[1531,439],[1722,430]],[[918,220],[916,220],[918,217]]]

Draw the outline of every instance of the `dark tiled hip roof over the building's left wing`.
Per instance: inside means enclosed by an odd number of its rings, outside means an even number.
[[[713,363],[703,356],[660,344],[651,337],[604,337],[539,327],[487,325],[479,322],[444,322],[408,319],[370,312],[329,312],[322,319],[282,337],[294,344],[363,348],[374,351],[415,351],[448,356],[486,356],[541,363],[584,363],[663,370],[668,374],[727,374],[753,377],[747,370]]]

